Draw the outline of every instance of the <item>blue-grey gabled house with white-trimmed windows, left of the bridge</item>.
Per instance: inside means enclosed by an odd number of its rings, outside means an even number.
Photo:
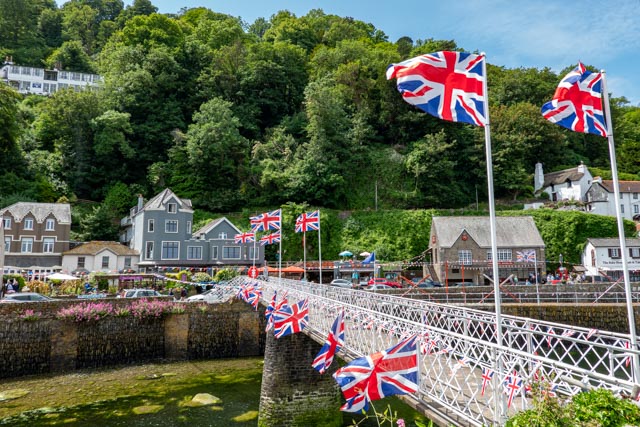
[[[121,220],[120,241],[140,253],[139,268],[248,266],[254,263],[253,243],[235,243],[240,230],[226,218],[193,232],[191,200],[165,189],[147,203],[142,196]],[[255,264],[264,251],[256,247]]]

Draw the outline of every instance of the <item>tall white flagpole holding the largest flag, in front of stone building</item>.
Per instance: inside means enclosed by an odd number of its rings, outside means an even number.
[[[498,345],[497,360],[495,361],[495,371],[502,375],[501,349],[502,349],[502,302],[500,296],[500,272],[498,269],[498,244],[496,232],[496,208],[493,194],[493,159],[491,157],[491,132],[489,121],[489,92],[487,90],[487,56],[484,52],[482,61],[482,91],[484,95],[484,139],[487,158],[487,191],[489,196],[489,228],[491,232],[491,265],[493,266],[493,294],[496,301],[496,344]],[[496,399],[496,415],[506,415],[506,403],[504,398]],[[496,420],[498,421],[498,420]]]

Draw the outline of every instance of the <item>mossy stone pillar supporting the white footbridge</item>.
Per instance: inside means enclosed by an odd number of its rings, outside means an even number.
[[[311,363],[321,345],[303,333],[275,339],[267,334],[259,427],[342,426],[341,394],[331,376]]]

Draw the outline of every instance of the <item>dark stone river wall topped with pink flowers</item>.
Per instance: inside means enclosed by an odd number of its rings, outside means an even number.
[[[104,301],[104,300],[102,300]],[[130,300],[109,300],[126,305]],[[169,359],[216,359],[264,354],[264,311],[246,303],[184,304],[184,314],[74,322],[56,319],[73,302],[0,306],[0,378]],[[37,320],[23,320],[30,309]]]

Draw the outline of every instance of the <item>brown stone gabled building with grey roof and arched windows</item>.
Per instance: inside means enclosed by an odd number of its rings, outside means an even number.
[[[489,217],[433,217],[429,252],[434,280],[490,284],[493,275]],[[545,268],[545,244],[533,217],[496,218],[500,279],[513,275],[524,282]]]

